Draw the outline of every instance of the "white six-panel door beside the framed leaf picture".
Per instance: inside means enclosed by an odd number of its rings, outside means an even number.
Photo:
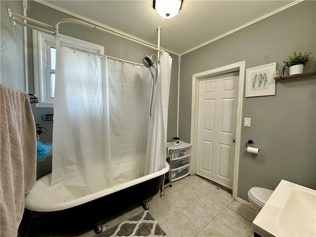
[[[239,72],[199,80],[197,174],[233,187]]]

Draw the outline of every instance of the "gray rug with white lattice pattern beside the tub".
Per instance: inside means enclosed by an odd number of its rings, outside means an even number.
[[[161,229],[154,217],[148,211],[144,211],[119,223],[117,226],[103,231],[96,237],[158,237],[165,235],[166,233]]]

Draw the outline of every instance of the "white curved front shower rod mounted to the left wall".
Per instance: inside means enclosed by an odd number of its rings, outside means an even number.
[[[15,24],[19,24],[19,25],[23,25],[23,26],[26,26],[26,27],[34,29],[34,30],[38,30],[38,31],[44,32],[46,34],[53,35],[56,39],[58,39],[58,37],[59,37],[58,36],[58,34],[59,34],[59,24],[65,23],[65,22],[70,22],[70,23],[76,23],[76,24],[79,24],[79,25],[83,25],[83,26],[89,27],[91,29],[94,29],[94,30],[97,30],[97,31],[100,31],[100,32],[103,32],[103,33],[108,33],[108,34],[120,37],[122,39],[129,40],[129,41],[141,44],[143,46],[146,46],[146,47],[149,47],[151,49],[157,50],[158,52],[165,52],[164,50],[160,49],[160,45],[158,45],[158,48],[157,48],[157,47],[154,47],[154,46],[149,45],[147,43],[141,42],[139,40],[134,40],[134,39],[129,38],[127,36],[123,36],[123,35],[120,35],[118,33],[112,32],[112,31],[106,29],[105,27],[97,26],[96,24],[91,24],[89,22],[86,22],[86,21],[83,21],[83,20],[79,20],[79,19],[75,19],[75,18],[61,18],[61,19],[58,19],[57,21],[55,21],[54,26],[51,26],[51,25],[48,25],[46,23],[40,22],[38,20],[32,19],[30,17],[23,16],[23,15],[20,15],[18,13],[15,13],[15,12],[11,11],[10,8],[8,8],[8,14],[9,14],[9,17],[12,18],[14,25]],[[28,23],[24,23],[24,22],[21,22],[21,21],[17,21],[14,18],[14,16],[22,18],[23,20],[27,20],[27,21],[32,22],[34,24],[37,24],[40,27],[34,26],[34,25],[30,25]],[[160,38],[160,27],[158,27],[158,38]],[[160,42],[160,39],[158,39],[158,43],[159,42]]]

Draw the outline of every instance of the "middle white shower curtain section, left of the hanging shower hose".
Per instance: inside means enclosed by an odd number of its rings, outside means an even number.
[[[147,68],[108,59],[115,183],[144,175],[153,79]]]

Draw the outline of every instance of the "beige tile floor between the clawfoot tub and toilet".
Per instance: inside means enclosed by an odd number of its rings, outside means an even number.
[[[167,237],[253,237],[251,222],[255,211],[196,175],[173,182],[172,187],[164,190],[164,197],[156,195],[149,206]],[[105,220],[103,229],[143,210],[142,206],[135,205]],[[40,237],[65,236],[61,234],[46,233]],[[71,236],[93,237],[95,233],[84,230]]]

